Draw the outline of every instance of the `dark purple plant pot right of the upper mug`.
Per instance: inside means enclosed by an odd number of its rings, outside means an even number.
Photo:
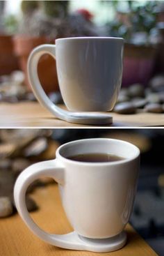
[[[151,46],[124,45],[122,86],[147,84],[154,71],[156,49]]]

